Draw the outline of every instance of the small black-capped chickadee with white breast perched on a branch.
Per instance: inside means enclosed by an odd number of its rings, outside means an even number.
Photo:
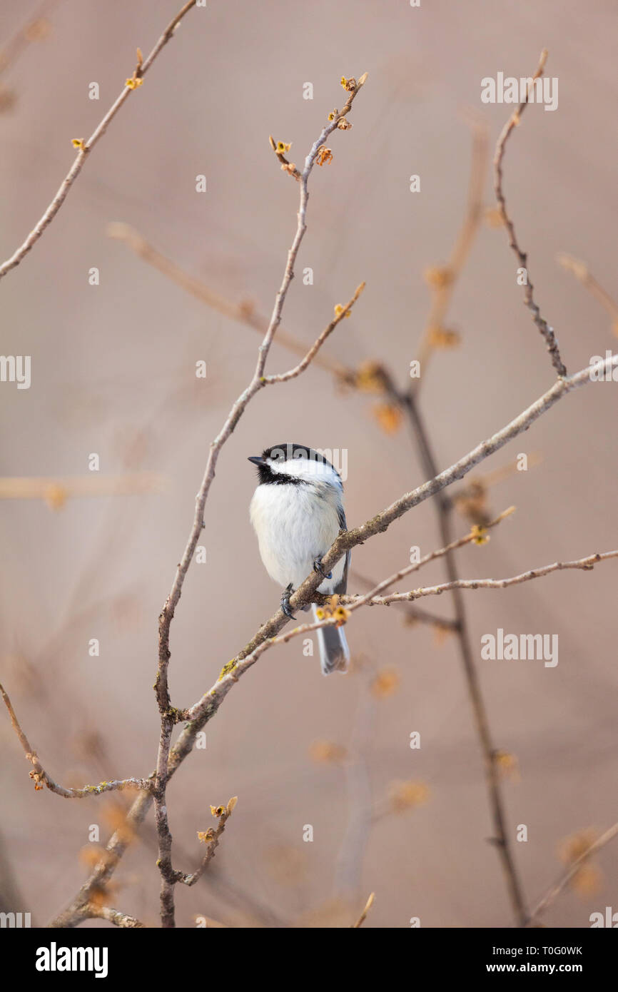
[[[324,577],[319,592],[345,592],[350,553],[327,575],[321,566],[339,531],[347,530],[339,473],[306,444],[276,444],[249,461],[258,466],[260,480],[251,500],[251,523],[266,570],[285,587],[284,613],[293,616],[290,596],[311,569]],[[323,674],[345,672],[350,653],[342,628],[318,628],[317,643]]]

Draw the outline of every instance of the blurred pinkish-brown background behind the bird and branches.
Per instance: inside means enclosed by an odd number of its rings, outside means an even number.
[[[2,257],[20,244],[73,157],[176,13],[175,0],[61,0],[49,32],[24,47],[0,81],[5,110],[0,180]],[[41,6],[5,2],[6,44]],[[270,313],[296,227],[298,186],[268,136],[293,142],[302,163],[326,113],[344,103],[341,75],[369,80],[353,129],[335,132],[333,162],[310,181],[309,230],[299,259],[313,286],[295,280],[286,330],[309,344],[356,285],[367,289],[328,354],[357,366],[375,358],[407,381],[427,322],[428,265],[443,262],[466,201],[472,108],[490,149],[509,106],[480,102],[480,80],[502,70],[530,75],[547,46],[558,108],[528,109],[512,137],[505,190],[544,314],[569,372],[616,345],[611,319],[556,263],[568,251],[601,284],[615,284],[617,148],[616,6],[611,0],[459,4],[216,3],[191,11],[144,85],[93,150],[42,240],[2,283],[4,354],[32,355],[32,387],[0,387],[3,476],[150,471],[161,492],[2,503],[0,672],[44,766],[64,784],[147,775],[158,714],[152,683],[157,617],[185,547],[210,439],[245,387],[258,335],[209,310],[106,235],[123,221],[225,298]],[[46,34],[46,32],[44,32]],[[96,81],[100,99],[88,99]],[[313,99],[303,99],[303,84]],[[207,192],[195,192],[195,176]],[[412,174],[421,192],[409,191]],[[493,206],[491,182],[486,204]],[[88,285],[97,267],[100,285]],[[515,282],[503,228],[483,223],[458,283],[448,325],[458,348],[438,352],[422,405],[444,468],[502,427],[552,384],[554,373]],[[207,362],[205,381],[194,363]],[[294,356],[275,346],[270,371]],[[561,402],[482,466],[520,451],[542,462],[496,485],[490,502],[517,513],[490,544],[458,556],[466,577],[506,576],[616,546],[616,389],[588,386]],[[315,400],[318,399],[318,402]],[[248,520],[254,470],[247,455],[292,439],[346,448],[348,524],[356,525],[424,481],[405,426],[385,433],[374,398],[343,392],[310,368],[258,395],[225,446],[207,505],[207,563],[193,564],[172,629],[171,686],[193,702],[270,616],[280,590],[268,579]],[[458,518],[457,533],[468,524]],[[353,554],[382,577],[413,545],[439,546],[432,502]],[[440,581],[436,564],[422,578]],[[352,591],[360,591],[352,583]],[[563,838],[602,830],[616,817],[616,563],[516,588],[466,592],[474,651],[497,746],[517,756],[521,781],[504,782],[518,869],[531,905],[561,870]],[[447,597],[426,599],[450,615]],[[325,680],[299,640],[265,655],[234,686],[207,726],[207,747],[185,762],[169,791],[177,864],[199,855],[195,831],[209,805],[239,797],[212,872],[178,894],[179,926],[202,914],[230,926],[349,926],[371,891],[367,927],[508,927],[512,915],[491,832],[482,760],[454,638],[407,627],[376,608],[348,626],[364,675]],[[558,634],[559,664],[481,662],[480,637]],[[98,638],[100,657],[88,656]],[[372,668],[373,667],[373,668]],[[396,690],[367,693],[367,672],[395,670]],[[371,827],[358,893],[333,901],[349,815],[344,768],[316,760],[315,741],[349,747],[358,707],[375,709],[366,764],[372,802],[397,781],[425,783],[429,801]],[[364,719],[364,717],[362,717]],[[361,720],[362,722],[362,720]],[[412,731],[422,747],[411,750]],[[65,802],[35,793],[5,714],[0,715],[3,859],[19,906],[44,926],[87,872],[88,827],[107,839],[117,815],[101,798]],[[312,824],[312,843],[303,841]],[[114,878],[112,905],[157,923],[152,817]],[[85,853],[82,851],[86,848]],[[82,852],[80,854],[80,851]],[[596,860],[587,898],[568,891],[546,923],[587,927],[618,910],[618,847]],[[5,882],[5,898],[6,885]],[[17,898],[17,897],[14,897]],[[97,926],[97,924],[89,924]]]

